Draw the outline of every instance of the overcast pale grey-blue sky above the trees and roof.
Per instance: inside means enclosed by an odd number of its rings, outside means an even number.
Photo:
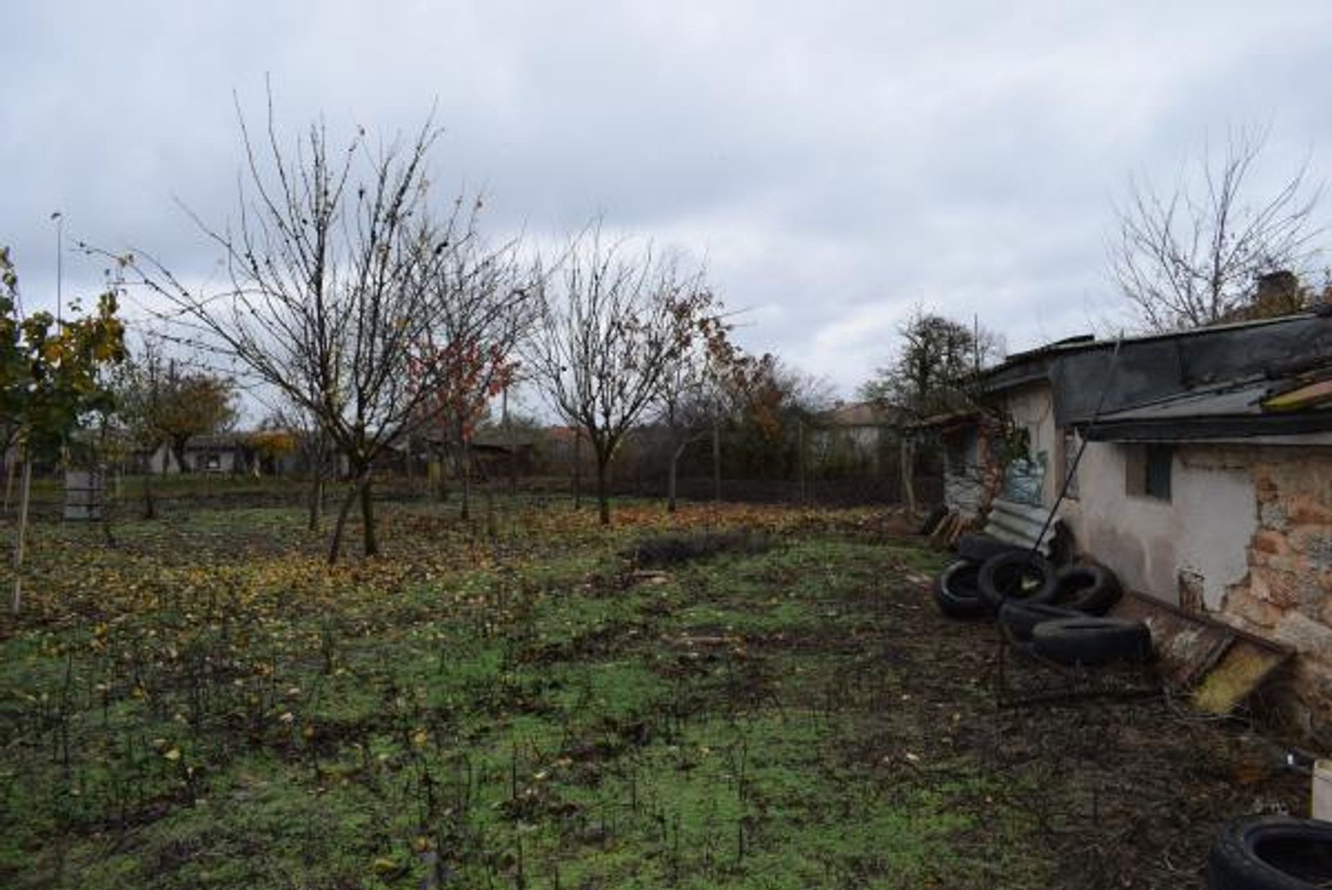
[[[180,199],[234,208],[233,93],[284,125],[392,135],[432,104],[446,189],[493,232],[609,225],[706,257],[745,346],[842,394],[922,304],[1011,350],[1119,305],[1104,268],[1130,173],[1171,183],[1228,128],[1255,184],[1332,147],[1332,7],[1241,3],[7,0],[0,244],[28,308],[68,240],[213,254]],[[65,293],[100,266],[65,254]],[[1111,322],[1112,324],[1112,322]]]

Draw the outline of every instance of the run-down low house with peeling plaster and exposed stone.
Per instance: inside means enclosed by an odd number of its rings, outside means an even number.
[[[1078,337],[979,382],[988,413],[931,418],[950,505],[1058,502],[1126,586],[1292,649],[1284,703],[1332,738],[1332,317]]]

